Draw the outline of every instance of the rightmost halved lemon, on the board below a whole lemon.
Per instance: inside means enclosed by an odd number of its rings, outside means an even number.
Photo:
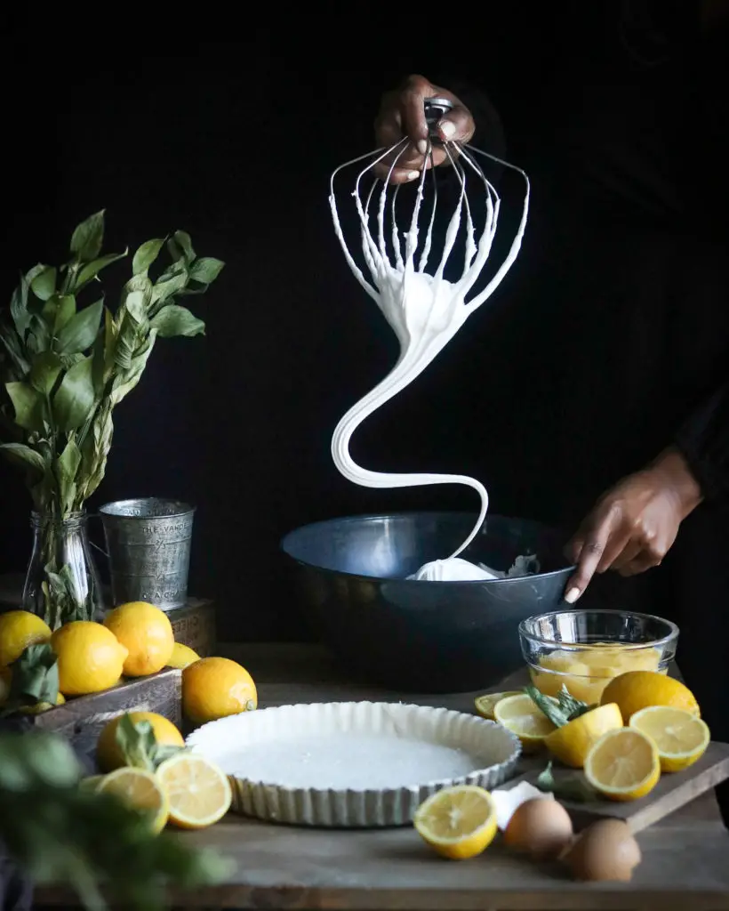
[[[693,711],[666,705],[651,705],[636,711],[630,726],[655,743],[662,772],[681,772],[694,765],[711,741],[708,725]]]

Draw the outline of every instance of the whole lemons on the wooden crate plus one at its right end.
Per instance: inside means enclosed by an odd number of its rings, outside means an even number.
[[[258,706],[248,670],[227,658],[201,659],[175,641],[167,614],[143,601],[120,605],[103,623],[75,620],[55,632],[25,610],[0,614],[0,705],[10,693],[14,662],[29,647],[44,644],[57,659],[56,705],[109,690],[128,678],[177,668],[182,670],[183,711],[191,722],[203,724]],[[21,711],[51,708],[48,702],[36,702]]]

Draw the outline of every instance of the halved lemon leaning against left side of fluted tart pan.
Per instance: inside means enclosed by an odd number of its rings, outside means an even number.
[[[157,780],[167,792],[169,821],[181,829],[203,829],[230,809],[228,776],[198,753],[171,756],[157,769]]]

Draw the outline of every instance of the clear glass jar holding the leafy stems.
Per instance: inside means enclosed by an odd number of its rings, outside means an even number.
[[[101,583],[88,543],[85,512],[64,518],[55,513],[31,513],[33,552],[30,555],[23,609],[57,630],[71,620],[101,619]]]

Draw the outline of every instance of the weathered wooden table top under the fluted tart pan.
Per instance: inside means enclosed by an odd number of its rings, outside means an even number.
[[[228,646],[220,652],[248,667],[258,683],[261,708],[359,699],[407,699],[462,711],[472,707],[472,693],[405,696],[347,683],[316,646]],[[238,865],[225,885],[171,896],[171,906],[186,908],[729,909],[729,833],[710,794],[638,835],[643,864],[630,884],[574,883],[559,865],[534,864],[507,853],[498,842],[471,861],[445,861],[411,828],[309,830],[229,814],[206,831],[181,837]],[[51,888],[39,889],[36,903],[74,904],[67,893]]]

